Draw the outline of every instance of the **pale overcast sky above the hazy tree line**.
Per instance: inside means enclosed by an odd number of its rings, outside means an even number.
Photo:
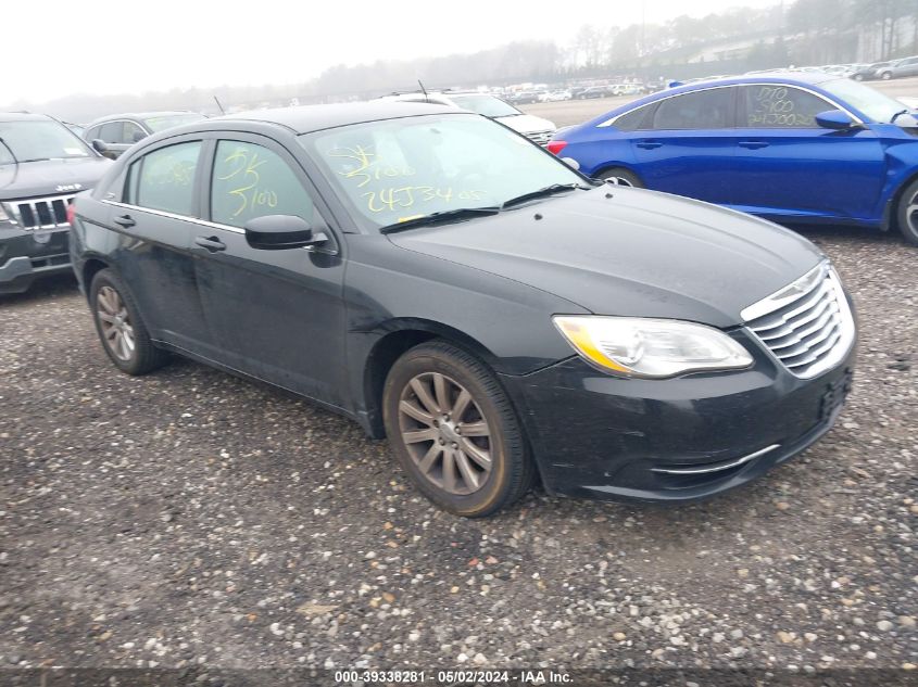
[[[5,0],[0,103],[79,92],[295,84],[335,64],[565,44],[584,23],[626,26],[778,0]],[[574,8],[581,8],[580,11]]]

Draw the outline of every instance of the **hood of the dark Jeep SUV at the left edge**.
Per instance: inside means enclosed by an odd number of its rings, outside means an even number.
[[[93,156],[0,165],[0,200],[85,191],[96,186],[112,164],[111,160]],[[58,189],[75,185],[80,188]]]

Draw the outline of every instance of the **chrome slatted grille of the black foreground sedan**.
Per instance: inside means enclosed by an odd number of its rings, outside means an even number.
[[[838,365],[854,343],[854,317],[828,263],[741,315],[765,347],[804,379]]]

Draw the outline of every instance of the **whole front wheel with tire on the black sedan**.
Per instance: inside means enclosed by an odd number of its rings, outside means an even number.
[[[461,348],[432,341],[402,355],[386,380],[382,414],[399,465],[443,510],[483,518],[532,486],[535,467],[510,399],[494,373]]]

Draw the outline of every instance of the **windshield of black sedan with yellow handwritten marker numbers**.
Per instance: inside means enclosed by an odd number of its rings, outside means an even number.
[[[583,183],[552,154],[475,115],[369,122],[305,133],[300,143],[374,227]]]

